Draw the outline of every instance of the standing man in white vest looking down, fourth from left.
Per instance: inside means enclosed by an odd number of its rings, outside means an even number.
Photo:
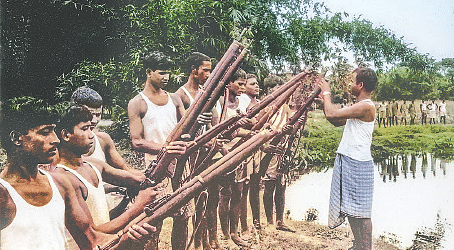
[[[144,89],[128,104],[129,129],[132,147],[145,153],[145,164],[149,166],[163,147],[168,135],[184,114],[180,98],[171,96],[163,88],[169,82],[169,70],[173,61],[161,52],[152,52],[143,60]],[[176,154],[184,154],[186,143],[171,142],[167,149]],[[170,180],[165,180],[170,189]],[[170,190],[169,190],[170,191]],[[185,249],[188,235],[188,216],[174,218],[172,230],[172,248]],[[160,227],[158,227],[158,231]],[[157,249],[158,238],[147,246]]]

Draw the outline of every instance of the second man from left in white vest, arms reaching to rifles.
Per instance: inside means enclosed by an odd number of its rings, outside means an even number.
[[[103,180],[117,186],[137,189],[145,176],[113,168],[99,160],[91,159],[88,162],[82,158],[93,144],[91,120],[92,114],[85,106],[73,106],[61,116],[56,126],[60,140],[60,158],[54,172],[62,173],[71,181],[76,194],[80,194],[86,202],[98,230],[116,233],[143,212],[145,205],[155,199],[156,192],[152,188],[139,192],[128,210],[118,218],[110,220]],[[150,192],[154,195],[150,195]],[[70,249],[77,249],[70,239],[68,244]]]

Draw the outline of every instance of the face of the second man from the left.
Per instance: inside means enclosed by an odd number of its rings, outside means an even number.
[[[68,136],[71,149],[77,155],[83,155],[90,151],[93,146],[93,132],[90,129],[91,122],[80,122],[74,126],[73,133]]]

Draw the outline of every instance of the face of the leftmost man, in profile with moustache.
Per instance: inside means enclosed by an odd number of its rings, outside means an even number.
[[[60,140],[55,134],[55,124],[40,125],[22,135],[22,150],[40,164],[49,164],[57,156]]]

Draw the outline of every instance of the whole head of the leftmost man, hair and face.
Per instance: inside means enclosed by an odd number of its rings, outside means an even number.
[[[1,113],[1,143],[8,157],[25,154],[36,164],[52,161],[59,143],[54,132],[58,113],[53,107],[25,96],[2,103]]]

